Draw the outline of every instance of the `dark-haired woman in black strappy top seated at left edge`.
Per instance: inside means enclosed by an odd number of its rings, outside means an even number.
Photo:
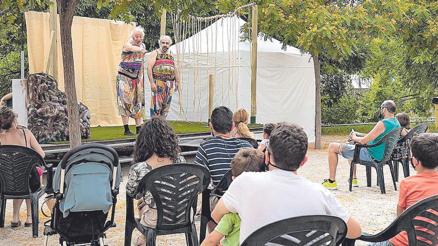
[[[3,133],[0,134],[0,145],[19,145],[31,148],[38,152],[42,158],[45,154],[41,146],[36,141],[35,136],[28,129],[18,124],[18,115],[8,107],[0,108],[0,128]],[[37,191],[41,186],[40,177],[42,170],[35,167],[30,173],[29,185],[31,191]],[[21,225],[20,221],[20,207],[23,199],[16,199],[12,201],[13,215],[10,227],[18,227]],[[24,223],[25,227],[32,226],[32,216],[30,208],[30,200],[26,199],[27,218]]]

